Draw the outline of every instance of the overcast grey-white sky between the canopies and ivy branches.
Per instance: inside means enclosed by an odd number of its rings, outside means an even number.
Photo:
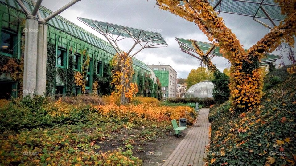
[[[42,5],[55,11],[70,1],[43,0]],[[175,37],[209,42],[208,38],[194,23],[183,20],[168,11],[159,10],[155,2],[155,0],[81,0],[60,15],[104,40],[104,36],[77,20],[77,17],[158,31],[167,41],[168,47],[147,48],[135,57],[149,65],[156,65],[158,61],[171,65],[178,72],[178,77],[187,78],[191,69],[200,66],[200,61],[183,53]],[[219,16],[224,18],[226,26],[236,34],[245,49],[249,49],[269,32],[268,28],[255,22],[252,17],[226,13],[220,13]],[[268,20],[262,19],[262,21],[271,26]],[[132,39],[127,38],[118,44],[122,50],[128,51],[134,43]],[[138,47],[133,52],[137,49]],[[280,53],[273,52],[273,54]],[[230,66],[222,57],[214,57],[212,61],[221,71]],[[284,58],[284,62],[290,63],[287,58]],[[280,63],[280,60],[277,63]]]

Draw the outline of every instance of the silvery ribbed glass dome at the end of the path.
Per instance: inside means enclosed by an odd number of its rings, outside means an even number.
[[[214,84],[211,81],[201,81],[192,85],[185,93],[185,98],[210,98],[213,97],[212,91]]]

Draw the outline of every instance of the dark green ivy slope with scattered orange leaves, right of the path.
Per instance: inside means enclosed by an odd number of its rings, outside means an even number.
[[[279,72],[279,71],[278,71]],[[208,165],[294,165],[296,163],[295,74],[266,91],[258,108],[240,115],[229,101],[210,109]]]

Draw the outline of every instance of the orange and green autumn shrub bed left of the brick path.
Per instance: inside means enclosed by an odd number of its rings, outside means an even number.
[[[129,143],[103,151],[100,142],[122,128],[144,128],[136,136],[152,141],[162,134],[153,131],[172,128],[171,119],[193,123],[190,107],[162,106],[148,97],[135,100],[129,105],[117,105],[114,96],[1,101],[0,165],[141,165]]]

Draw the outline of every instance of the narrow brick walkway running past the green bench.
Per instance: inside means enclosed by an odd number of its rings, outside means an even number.
[[[197,121],[190,131],[172,152],[163,166],[202,166],[208,145],[209,109],[200,109]],[[182,132],[181,132],[182,134]]]

